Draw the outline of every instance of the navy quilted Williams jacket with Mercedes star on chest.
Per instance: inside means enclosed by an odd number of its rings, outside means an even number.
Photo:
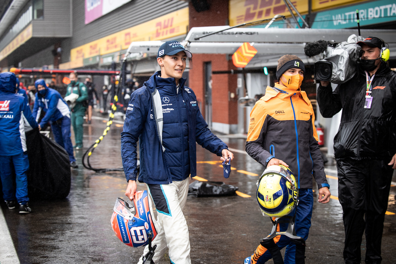
[[[128,103],[121,133],[122,164],[127,180],[137,177],[138,140],[138,180],[148,184],[168,184],[190,174],[196,176],[195,142],[217,156],[227,148],[208,129],[194,92],[184,86],[185,79],[179,80],[176,96],[175,80],[160,78],[160,74],[156,72],[134,91]]]

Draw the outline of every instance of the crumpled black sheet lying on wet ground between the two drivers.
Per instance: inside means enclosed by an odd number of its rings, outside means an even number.
[[[233,196],[236,195],[236,190],[238,190],[238,187],[224,182],[194,181],[188,186],[188,195],[196,197]]]

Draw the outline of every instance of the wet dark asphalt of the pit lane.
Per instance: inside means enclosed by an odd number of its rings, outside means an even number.
[[[106,128],[107,116],[96,114],[92,124],[84,124],[84,146],[98,139]],[[120,133],[122,118],[116,118],[105,139],[93,152],[90,163],[95,168],[122,167]],[[188,196],[184,209],[187,219],[192,264],[242,264],[272,228],[270,218],[263,217],[255,200],[256,181],[263,168],[244,153],[246,138],[218,135],[234,152],[232,170],[223,177],[219,157],[197,147],[198,176],[237,186],[242,196],[196,198]],[[74,140],[74,139],[72,139]],[[95,173],[82,166],[84,150],[75,151],[78,169],[72,169],[70,194],[62,200],[32,200],[33,212],[19,215],[1,208],[21,264],[137,263],[143,248],[124,245],[110,225],[114,202],[124,197],[126,179],[123,172]],[[306,241],[307,264],[343,263],[344,226],[342,208],[337,200],[337,171],[326,165],[332,199],[327,204],[314,202],[312,226]],[[257,176],[256,176],[257,175]],[[192,182],[193,180],[191,180]],[[393,178],[396,182],[396,177]],[[145,190],[138,183],[138,190]],[[314,201],[317,187],[314,184]],[[396,262],[396,186],[391,187],[382,240],[383,264]],[[284,251],[282,251],[284,252]],[[365,238],[362,241],[364,260]],[[3,262],[1,262],[3,264]],[[5,262],[4,262],[5,263]],[[168,264],[165,255],[160,263]],[[267,263],[273,263],[269,260]],[[364,263],[364,261],[362,261]]]

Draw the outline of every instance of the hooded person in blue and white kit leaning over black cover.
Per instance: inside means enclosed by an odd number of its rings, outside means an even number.
[[[40,121],[40,126],[44,127],[47,122],[51,124],[55,142],[61,145],[69,154],[70,167],[78,168],[73,154],[73,144],[70,139],[69,106],[58,91],[47,87],[43,79],[37,80],[34,86],[36,86],[38,92],[34,101],[33,117],[38,121],[41,111],[46,113]]]

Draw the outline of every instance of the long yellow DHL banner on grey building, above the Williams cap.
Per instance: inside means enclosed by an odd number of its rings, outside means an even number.
[[[116,32],[70,51],[71,61],[128,49],[133,41],[163,40],[187,33],[188,8]]]

